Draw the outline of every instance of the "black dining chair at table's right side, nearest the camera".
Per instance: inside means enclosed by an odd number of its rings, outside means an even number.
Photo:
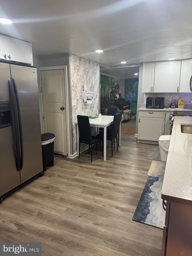
[[[118,152],[118,132],[119,132],[119,125],[120,125],[120,122],[121,122],[121,118],[122,118],[122,115],[120,114],[120,112],[116,113],[114,115],[114,119],[113,119],[113,124],[112,124],[112,127],[111,129],[108,129],[107,130],[107,140],[110,140],[111,141],[111,154],[113,156],[113,142],[114,142],[114,150],[115,150],[115,139],[116,139],[116,142],[117,142],[117,152]],[[100,137],[104,137],[104,132],[101,131],[98,136]]]

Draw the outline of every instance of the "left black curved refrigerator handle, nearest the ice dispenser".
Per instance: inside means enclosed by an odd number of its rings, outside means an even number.
[[[19,120],[17,116],[17,105],[16,105],[16,98],[15,98],[15,93],[13,89],[13,83],[11,78],[8,79],[8,85],[9,85],[9,92],[10,92],[10,100],[12,103],[12,108],[13,108],[13,128],[15,130],[15,142],[16,142],[16,169],[19,172],[20,171],[20,146],[19,146]]]

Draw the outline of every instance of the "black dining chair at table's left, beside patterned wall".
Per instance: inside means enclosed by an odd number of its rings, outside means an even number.
[[[91,127],[89,124],[88,116],[77,116],[77,123],[79,129],[79,155],[80,155],[80,144],[85,143],[89,145],[89,153],[91,146],[91,163],[92,163],[92,145],[96,144],[96,154],[97,154],[97,143],[102,142],[102,153],[104,151],[103,137],[101,136],[92,136]]]

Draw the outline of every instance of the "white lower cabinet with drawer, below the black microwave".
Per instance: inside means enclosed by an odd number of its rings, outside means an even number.
[[[138,140],[158,141],[164,128],[164,112],[139,111]]]

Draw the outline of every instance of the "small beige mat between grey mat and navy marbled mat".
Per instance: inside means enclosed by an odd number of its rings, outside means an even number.
[[[166,162],[153,160],[147,175],[164,178],[165,167],[166,167]]]

